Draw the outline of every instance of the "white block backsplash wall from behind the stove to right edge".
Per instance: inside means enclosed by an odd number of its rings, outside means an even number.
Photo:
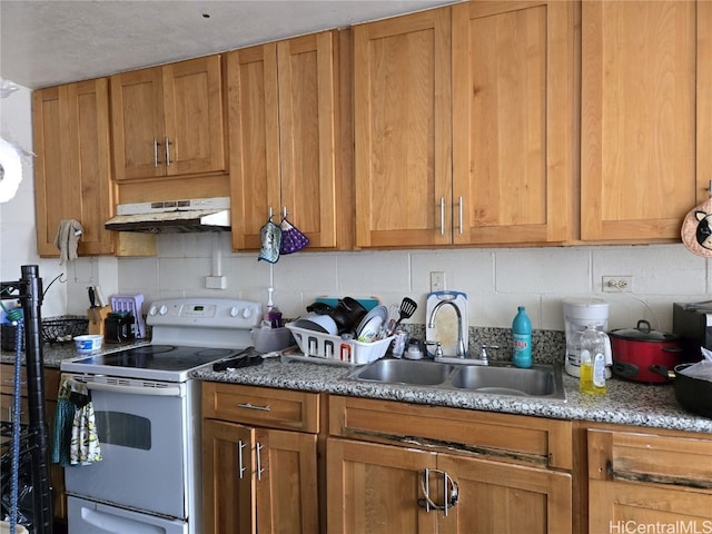
[[[231,254],[229,234],[159,236],[158,258],[119,260],[119,287],[146,299],[181,295],[237,296],[265,301],[270,266],[257,253]],[[206,289],[212,247],[221,254],[227,289]],[[220,256],[218,254],[217,256]],[[510,327],[525,305],[535,328],[563,329],[562,299],[605,298],[611,328],[647,319],[672,329],[672,303],[710,298],[706,260],[682,245],[521,249],[297,253],[274,266],[275,303],[287,316],[304,313],[319,295],[375,295],[385,304],[404,296],[418,303],[412,322],[424,323],[429,273],[468,295],[471,326]],[[633,276],[630,294],[601,293],[604,275]]]

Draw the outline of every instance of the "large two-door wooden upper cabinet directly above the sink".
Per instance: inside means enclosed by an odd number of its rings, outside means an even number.
[[[358,246],[571,238],[574,22],[478,1],[354,29]]]

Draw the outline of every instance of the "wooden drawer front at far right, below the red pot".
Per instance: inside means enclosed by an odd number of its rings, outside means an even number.
[[[712,439],[589,429],[589,478],[712,490]]]

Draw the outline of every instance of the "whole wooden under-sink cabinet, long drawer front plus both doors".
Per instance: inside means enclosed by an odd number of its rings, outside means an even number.
[[[567,422],[347,397],[329,417],[329,534],[572,532]]]

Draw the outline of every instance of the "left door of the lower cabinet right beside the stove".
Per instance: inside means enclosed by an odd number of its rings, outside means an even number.
[[[256,533],[254,428],[202,421],[202,513],[206,534]]]

